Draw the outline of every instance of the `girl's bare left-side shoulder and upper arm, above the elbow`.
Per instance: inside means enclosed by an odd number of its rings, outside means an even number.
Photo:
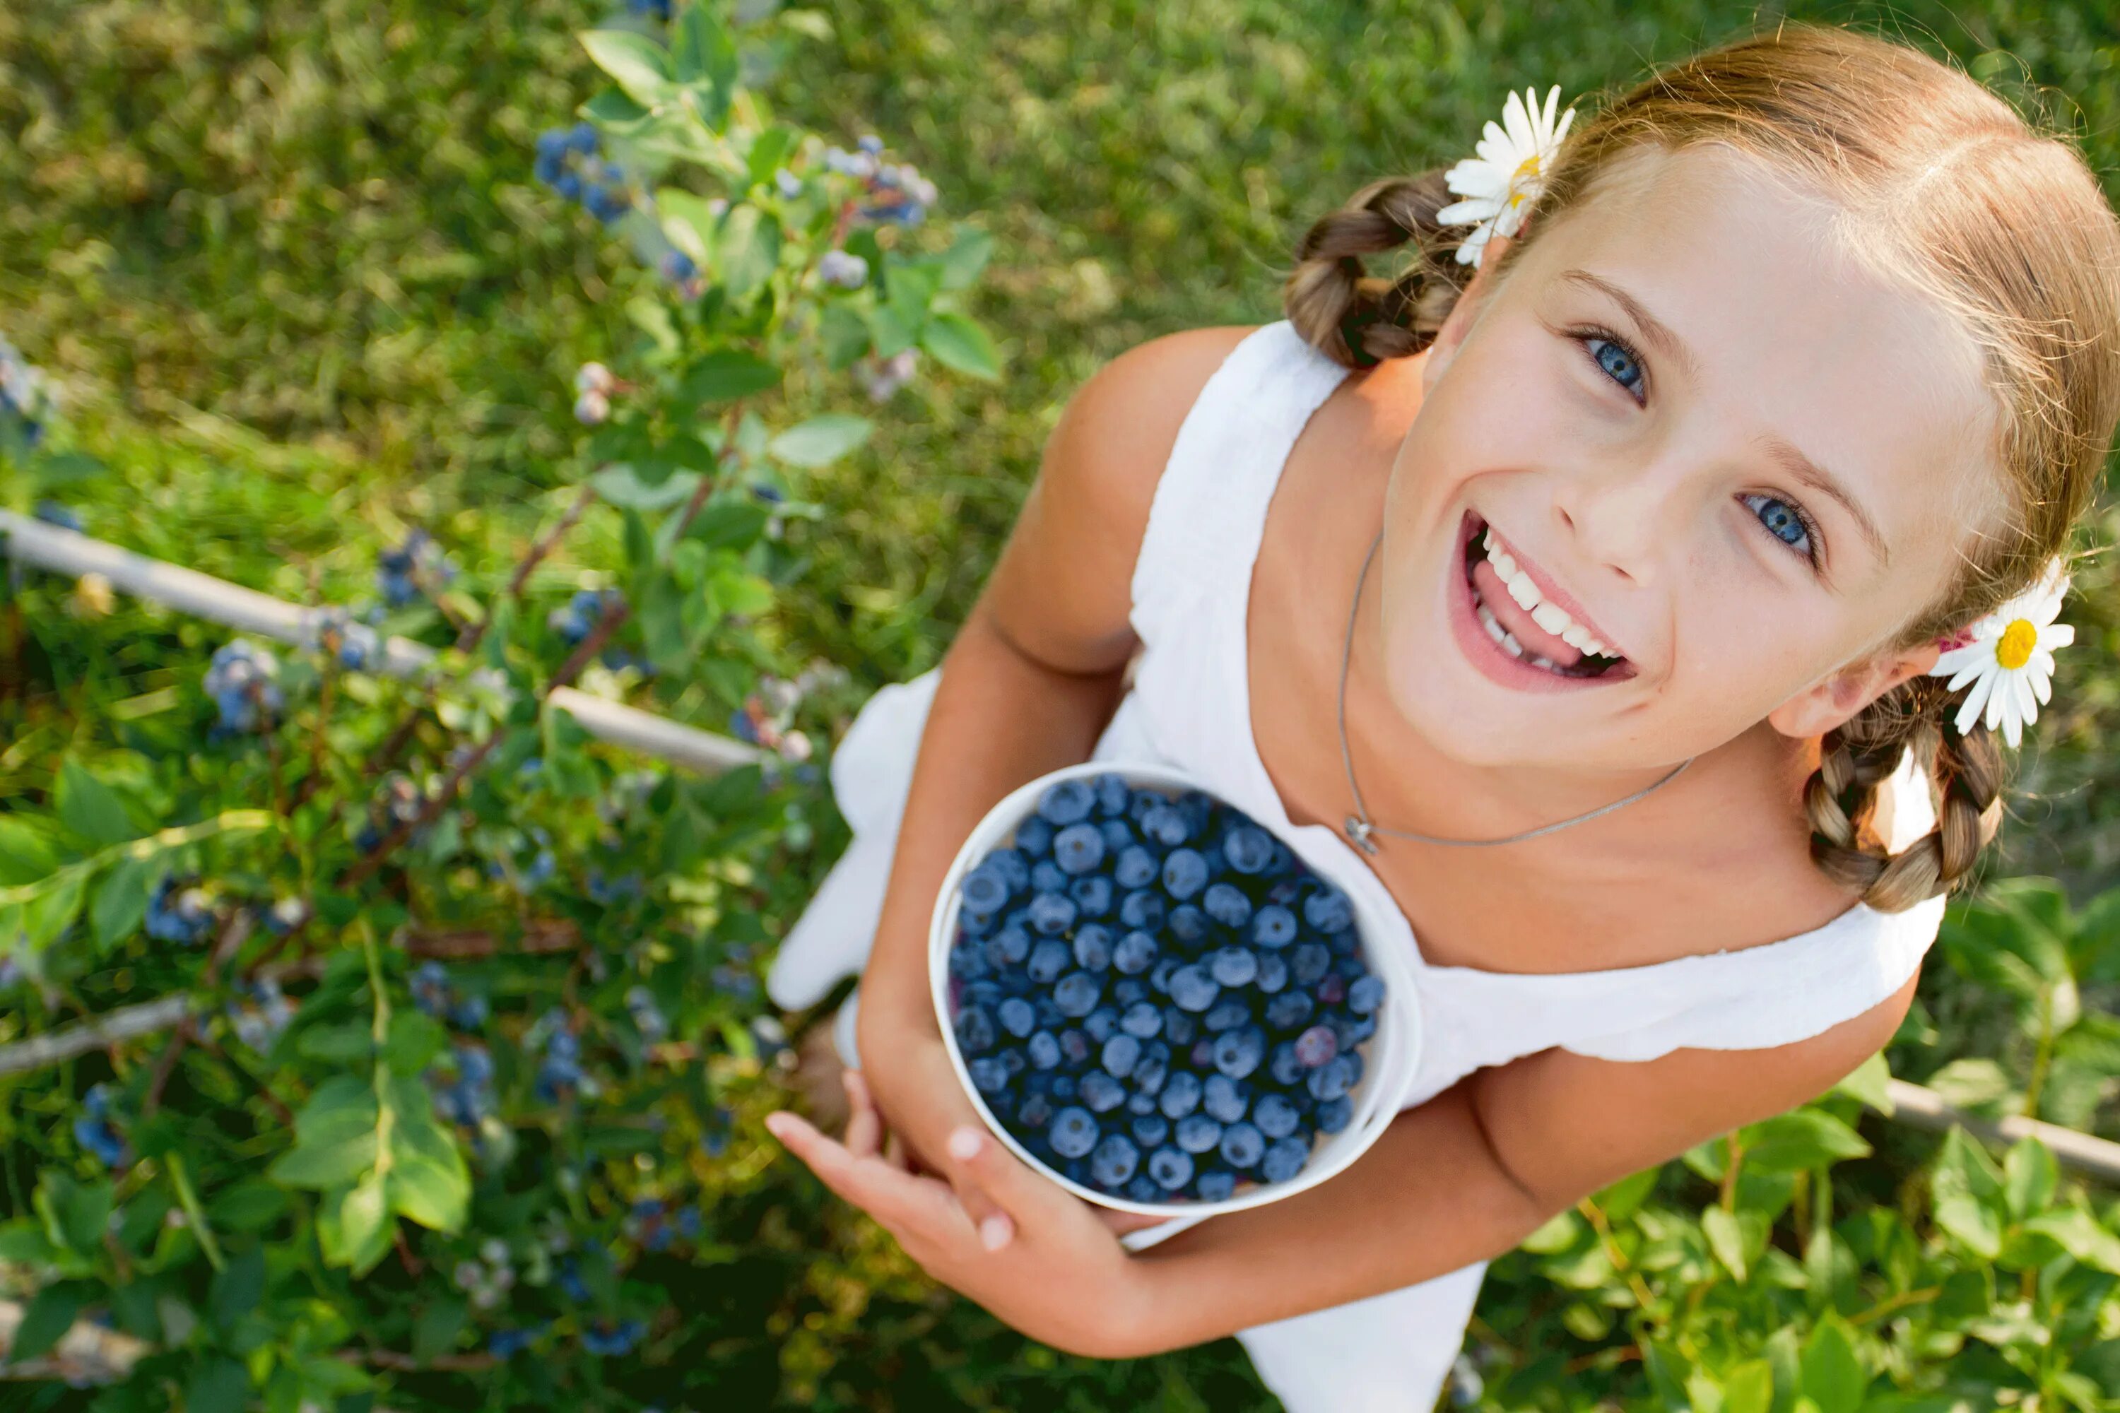
[[[1026,657],[1071,674],[1132,652],[1134,564],[1185,413],[1253,328],[1187,328],[1136,343],[1068,398],[994,564],[982,610]]]

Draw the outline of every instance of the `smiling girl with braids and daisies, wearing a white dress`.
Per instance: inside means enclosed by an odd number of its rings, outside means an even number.
[[[1779,25],[1509,125],[1321,220],[1283,322],[1075,394],[943,665],[833,758],[856,843],[772,979],[814,1004],[873,932],[844,1144],[772,1125],[935,1277],[1085,1354],[1236,1332],[1295,1413],[1431,1407],[1488,1258],[1891,1038],[2120,417],[2097,180],[1919,51]],[[1423,1068],[1344,1174],[1119,1241],[982,1133],[929,913],[1085,756],[1384,905]]]

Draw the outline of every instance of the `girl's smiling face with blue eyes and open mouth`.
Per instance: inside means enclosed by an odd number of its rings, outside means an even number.
[[[1830,214],[1730,148],[1643,150],[1461,301],[1376,561],[1391,697],[1439,750],[1675,763],[1933,659],[1891,648],[1999,515],[1993,396]]]

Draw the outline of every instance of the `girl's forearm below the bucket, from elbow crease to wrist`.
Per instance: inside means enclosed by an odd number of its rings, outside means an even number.
[[[1412,1108],[1319,1186],[1147,1248],[1138,1347],[1162,1354],[1514,1250],[1550,1212],[1495,1161],[1467,1083]]]

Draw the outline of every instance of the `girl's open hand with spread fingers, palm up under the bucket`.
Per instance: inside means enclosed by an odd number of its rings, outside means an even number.
[[[844,1078],[852,1104],[844,1146],[789,1112],[767,1114],[774,1138],[825,1186],[873,1216],[935,1280],[1058,1349],[1126,1358],[1147,1324],[1145,1282],[1090,1203],[967,1125],[946,1142],[948,1176],[984,1193],[1009,1231],[999,1231],[994,1218],[973,1222],[950,1182],[914,1174],[897,1138],[886,1138],[861,1072]]]

